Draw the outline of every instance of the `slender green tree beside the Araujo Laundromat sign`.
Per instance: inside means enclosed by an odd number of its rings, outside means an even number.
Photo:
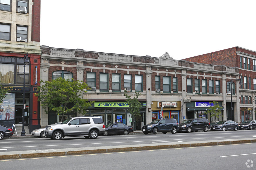
[[[134,97],[133,99],[131,98],[131,96],[127,95],[127,91],[125,91],[125,98],[126,98],[126,102],[129,104],[129,111],[133,117],[133,127],[134,127],[134,122],[135,122],[135,117],[140,116],[140,109],[141,109],[141,103],[138,100],[138,97],[140,95],[139,92],[135,92],[136,97]],[[133,128],[133,132],[134,132],[134,128]]]

